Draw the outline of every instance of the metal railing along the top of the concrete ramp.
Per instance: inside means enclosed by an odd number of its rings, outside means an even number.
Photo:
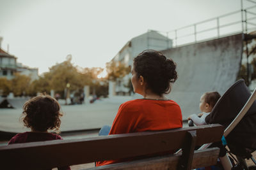
[[[248,1],[254,5],[243,8],[243,1]],[[236,15],[236,16],[235,16]],[[239,17],[241,15],[241,18]],[[228,17],[233,16],[237,20],[230,20]],[[223,22],[223,24],[221,24]],[[200,26],[203,29],[200,29]],[[206,28],[205,28],[206,27]],[[226,30],[225,30],[226,29]],[[250,31],[256,30],[256,1],[241,0],[241,10],[237,10],[219,17],[197,22],[195,24],[180,27],[172,31],[156,31],[166,36],[166,43],[172,39],[174,46],[184,45],[186,43],[196,43],[206,39],[220,38],[228,34],[243,32],[248,34]],[[148,37],[148,46],[150,46],[150,38]]]

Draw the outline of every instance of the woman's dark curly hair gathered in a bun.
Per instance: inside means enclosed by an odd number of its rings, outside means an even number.
[[[170,93],[170,83],[177,80],[176,63],[155,50],[141,52],[134,58],[133,66],[138,78],[143,76],[147,89],[159,96]]]

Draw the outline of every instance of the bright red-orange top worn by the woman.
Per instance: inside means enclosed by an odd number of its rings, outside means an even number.
[[[120,105],[109,134],[162,131],[180,127],[182,127],[182,115],[175,101],[136,99]],[[121,161],[99,161],[96,162],[96,166]]]

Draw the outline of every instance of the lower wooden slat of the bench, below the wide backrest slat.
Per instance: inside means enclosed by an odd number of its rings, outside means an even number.
[[[197,150],[194,153],[192,169],[199,167],[212,166],[216,164],[219,148],[207,148],[204,151]],[[164,157],[152,157],[150,159],[134,160],[132,162],[122,162],[117,164],[110,164],[107,166],[93,167],[87,170],[117,170],[117,169],[131,169],[131,170],[149,170],[149,169],[169,169],[176,170],[180,160],[179,155],[166,155]]]

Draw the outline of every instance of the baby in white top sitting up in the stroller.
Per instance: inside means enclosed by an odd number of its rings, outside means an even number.
[[[203,113],[199,113],[198,115],[193,114],[188,117],[188,120],[193,120],[195,125],[206,125],[205,117],[207,117],[212,108],[214,108],[218,99],[220,99],[220,94],[218,92],[206,92],[200,98],[199,108]]]

